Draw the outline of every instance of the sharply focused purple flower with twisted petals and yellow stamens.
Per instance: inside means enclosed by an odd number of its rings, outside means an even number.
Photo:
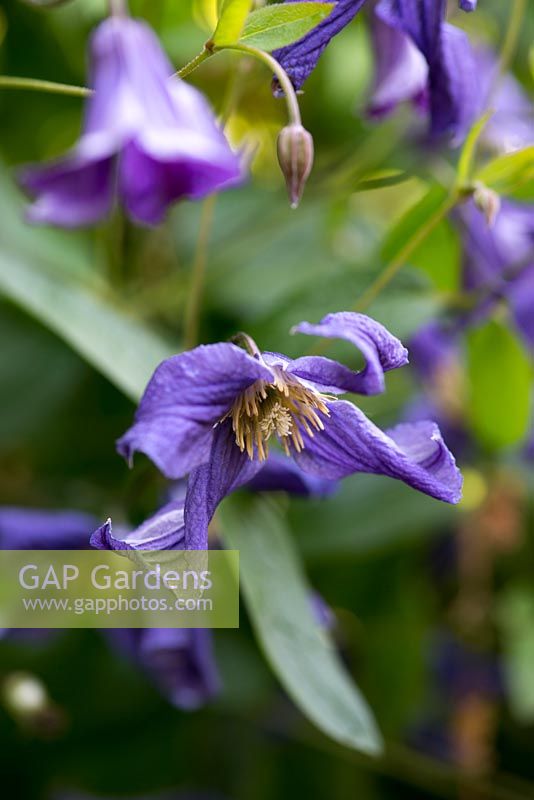
[[[458,502],[461,475],[432,422],[381,431],[345,392],[376,394],[384,373],[407,363],[407,351],[362,314],[327,315],[295,332],[345,339],[366,359],[363,370],[321,356],[291,360],[260,352],[248,337],[204,345],[164,361],[145,390],[134,425],[118,442],[128,461],[148,455],[169,478],[191,473],[184,542],[205,549],[218,503],[262,468],[269,444],[312,475],[335,480],[355,472],[388,475],[446,502]]]

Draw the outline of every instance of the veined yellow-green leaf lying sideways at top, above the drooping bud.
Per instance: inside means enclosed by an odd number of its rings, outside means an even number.
[[[276,3],[247,18],[240,41],[261,50],[276,50],[302,39],[329,16],[334,3]]]

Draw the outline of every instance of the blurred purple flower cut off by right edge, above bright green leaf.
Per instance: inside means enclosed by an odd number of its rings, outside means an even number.
[[[493,227],[474,203],[457,213],[464,245],[464,288],[480,319],[505,298],[518,333],[534,349],[534,207],[504,201]]]

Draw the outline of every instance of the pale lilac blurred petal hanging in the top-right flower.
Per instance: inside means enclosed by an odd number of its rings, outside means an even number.
[[[373,15],[375,78],[368,113],[380,117],[399,103],[423,105],[427,94],[428,64],[409,36]]]

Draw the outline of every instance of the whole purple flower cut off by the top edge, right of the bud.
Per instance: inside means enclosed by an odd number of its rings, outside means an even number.
[[[294,2],[295,0],[286,0]],[[298,42],[274,52],[300,89],[330,40],[340,33],[365,0],[338,0],[332,13]],[[473,0],[460,0],[473,11]],[[446,0],[381,0],[375,8],[377,76],[370,103],[373,114],[399,102],[428,105],[431,134],[460,142],[477,105],[477,71],[467,35],[445,22]]]

